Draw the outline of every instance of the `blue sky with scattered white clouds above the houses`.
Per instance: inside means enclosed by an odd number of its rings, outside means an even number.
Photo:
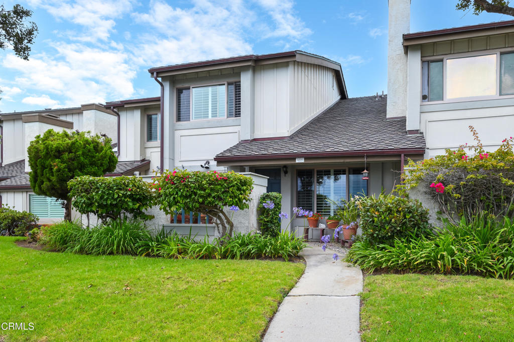
[[[2,112],[158,96],[151,67],[294,49],[341,63],[352,97],[387,92],[387,0],[16,3],[40,33],[28,62],[0,50]],[[513,19],[455,3],[412,0],[411,32]]]

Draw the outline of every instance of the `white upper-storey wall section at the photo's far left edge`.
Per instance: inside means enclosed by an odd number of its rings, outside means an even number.
[[[4,120],[4,160],[10,164],[25,158],[25,131],[22,119]]]

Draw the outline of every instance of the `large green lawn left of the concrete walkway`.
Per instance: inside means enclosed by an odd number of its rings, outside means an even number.
[[[258,340],[302,263],[87,256],[0,237],[0,340]]]

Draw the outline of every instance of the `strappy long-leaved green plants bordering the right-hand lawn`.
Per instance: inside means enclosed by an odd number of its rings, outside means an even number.
[[[457,224],[446,223],[436,234],[396,239],[391,245],[356,242],[346,261],[373,272],[423,272],[514,277],[514,223],[481,214]]]

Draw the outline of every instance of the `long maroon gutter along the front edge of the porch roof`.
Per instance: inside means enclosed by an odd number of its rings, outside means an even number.
[[[216,156],[216,162],[230,162],[232,160],[258,160],[258,159],[281,159],[296,157],[339,157],[352,155],[388,155],[388,154],[419,154],[425,153],[425,149],[395,149],[395,150],[360,150],[342,152],[309,152],[309,153],[280,153],[280,154],[257,154],[257,155],[234,155]]]

